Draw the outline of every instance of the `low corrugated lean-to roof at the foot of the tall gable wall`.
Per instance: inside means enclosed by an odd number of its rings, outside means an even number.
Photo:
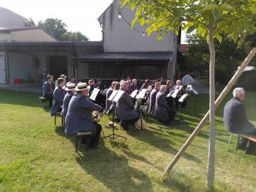
[[[120,52],[87,54],[76,57],[80,61],[171,61],[173,52]]]

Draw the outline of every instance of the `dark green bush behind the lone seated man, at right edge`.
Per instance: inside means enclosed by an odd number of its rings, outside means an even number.
[[[243,72],[238,80],[239,87],[245,90],[256,91],[256,71]]]

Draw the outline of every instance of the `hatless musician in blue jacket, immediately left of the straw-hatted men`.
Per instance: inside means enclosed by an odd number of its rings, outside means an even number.
[[[50,116],[55,116],[56,113],[61,112],[63,99],[65,97],[65,90],[62,89],[62,87],[65,86],[65,79],[58,78],[57,85],[58,87],[54,90],[54,105],[50,109]]]

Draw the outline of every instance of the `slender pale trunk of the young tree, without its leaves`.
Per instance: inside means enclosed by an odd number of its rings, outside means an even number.
[[[207,186],[213,188],[214,185],[214,151],[215,151],[215,49],[213,42],[213,28],[210,27],[209,50],[210,50],[210,131],[209,131],[209,151],[208,151],[208,175]]]

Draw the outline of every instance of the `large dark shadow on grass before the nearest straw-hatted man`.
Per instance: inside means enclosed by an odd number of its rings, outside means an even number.
[[[76,161],[88,175],[92,175],[109,190],[153,191],[152,183],[145,173],[129,166],[127,157],[109,148],[91,150],[76,157]]]

